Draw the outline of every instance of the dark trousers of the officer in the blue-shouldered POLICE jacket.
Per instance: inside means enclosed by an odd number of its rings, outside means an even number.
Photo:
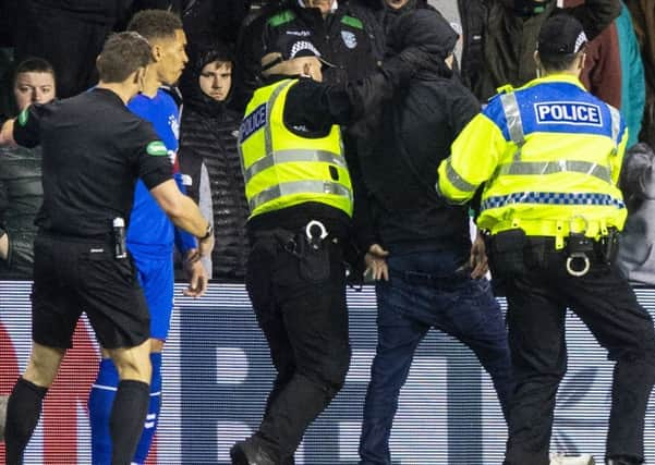
[[[596,257],[584,277],[568,274],[566,254],[545,238],[527,238],[523,264],[498,265],[514,270],[506,279],[517,388],[505,463],[549,463],[556,393],[567,370],[567,307],[616,360],[607,456],[643,461],[644,415],[655,382],[655,331],[628,281],[616,266]]]

